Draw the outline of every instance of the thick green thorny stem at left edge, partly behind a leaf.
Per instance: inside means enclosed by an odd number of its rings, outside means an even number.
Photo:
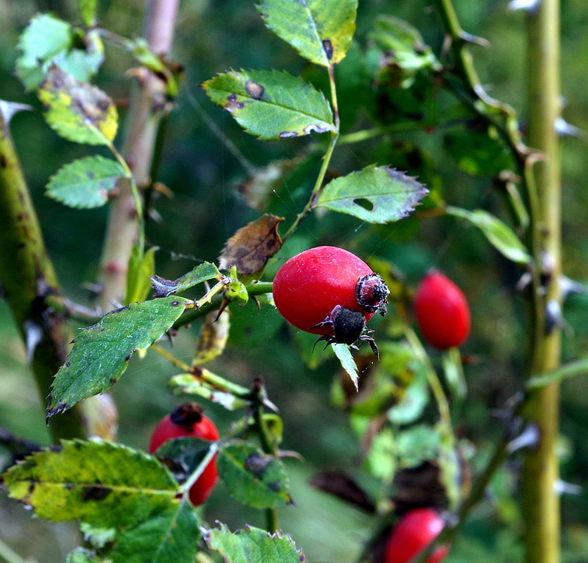
[[[3,110],[0,105],[0,280],[45,403],[67,358],[70,326],[47,301],[60,297],[60,287]],[[84,436],[79,410],[53,417],[49,430],[55,442]]]

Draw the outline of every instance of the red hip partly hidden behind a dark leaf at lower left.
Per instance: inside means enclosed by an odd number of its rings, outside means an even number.
[[[183,403],[162,418],[151,435],[149,453],[154,453],[165,441],[184,436],[207,441],[219,438],[214,422],[202,414],[202,406],[198,403]],[[195,506],[204,503],[217,479],[216,458],[213,458],[190,488],[190,502]]]

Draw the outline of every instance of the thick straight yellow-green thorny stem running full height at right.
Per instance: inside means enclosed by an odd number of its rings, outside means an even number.
[[[528,376],[556,369],[561,355],[559,319],[554,319],[554,325],[546,316],[548,304],[556,309],[561,307],[561,158],[555,128],[561,111],[559,15],[558,0],[542,0],[526,18],[528,143],[545,155],[532,171],[537,202],[530,211],[535,214],[538,244],[533,249],[537,273],[531,314],[536,327]],[[540,276],[542,279],[537,280]],[[558,384],[552,383],[533,393],[523,415],[536,425],[540,436],[537,447],[525,451],[523,456],[525,562],[557,563],[560,560],[560,507],[556,492]]]

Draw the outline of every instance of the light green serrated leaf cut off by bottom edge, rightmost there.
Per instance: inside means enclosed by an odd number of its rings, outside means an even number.
[[[268,532],[253,526],[230,533],[225,524],[204,533],[211,550],[221,554],[226,563],[306,563],[302,550],[292,538],[277,530]]]

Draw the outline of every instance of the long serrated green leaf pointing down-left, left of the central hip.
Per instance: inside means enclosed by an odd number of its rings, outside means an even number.
[[[182,297],[131,303],[81,329],[67,361],[55,374],[48,417],[110,389],[126,370],[131,356],[162,337],[188,303]]]

